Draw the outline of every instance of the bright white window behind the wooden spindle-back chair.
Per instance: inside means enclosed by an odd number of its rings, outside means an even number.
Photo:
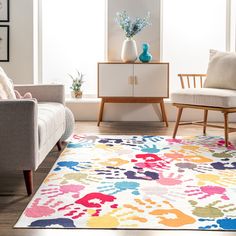
[[[170,62],[170,90],[178,73],[206,73],[209,49],[226,50],[226,1],[164,0],[163,60]]]

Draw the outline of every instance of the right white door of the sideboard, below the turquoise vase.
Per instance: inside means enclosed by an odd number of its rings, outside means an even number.
[[[135,64],[134,97],[169,97],[169,64]]]

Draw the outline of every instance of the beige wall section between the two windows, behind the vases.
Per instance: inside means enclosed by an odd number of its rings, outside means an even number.
[[[137,43],[139,54],[142,52],[141,44],[150,44],[150,52],[153,60],[160,60],[160,0],[107,0],[108,19],[108,60],[120,61],[122,42],[125,39],[124,32],[115,23],[116,12],[126,10],[133,17],[144,17],[151,13],[151,26],[147,26],[139,32],[134,39]]]

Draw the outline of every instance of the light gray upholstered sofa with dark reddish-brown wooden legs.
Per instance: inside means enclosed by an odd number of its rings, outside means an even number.
[[[65,131],[63,85],[19,85],[21,94],[35,99],[0,100],[0,168],[22,170],[28,195],[33,171],[42,163]]]

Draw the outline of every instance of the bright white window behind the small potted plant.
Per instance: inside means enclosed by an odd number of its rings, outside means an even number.
[[[43,82],[64,83],[76,69],[85,94],[96,94],[97,62],[105,55],[105,0],[42,1]]]

